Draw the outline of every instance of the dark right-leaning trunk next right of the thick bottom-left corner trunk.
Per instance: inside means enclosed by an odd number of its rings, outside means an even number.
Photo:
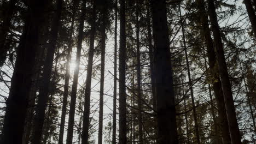
[[[35,116],[35,131],[32,143],[38,144],[41,141],[46,103],[48,101],[49,84],[51,78],[51,68],[53,67],[54,51],[56,48],[57,34],[60,27],[62,10],[62,0],[56,1],[56,12],[54,13],[53,22],[51,25],[51,37],[49,42],[49,47],[46,53],[46,59],[43,69],[43,81],[42,86],[39,88],[38,104],[36,108]]]

